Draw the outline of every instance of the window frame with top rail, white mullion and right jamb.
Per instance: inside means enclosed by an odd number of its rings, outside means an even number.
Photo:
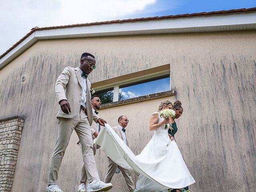
[[[144,75],[144,76],[135,77],[135,78],[128,79],[128,80],[119,81],[119,82],[108,84],[108,85],[105,85],[105,86],[96,87],[96,88],[94,88],[94,90],[95,91],[100,91],[100,90],[104,90],[104,89],[114,87],[113,102],[116,102],[119,99],[119,86],[122,86],[124,84],[139,82],[139,81],[142,81],[142,80],[147,80],[147,79],[150,79],[150,78],[156,78],[158,76],[164,76],[164,75],[167,75],[167,74],[169,74],[169,77],[170,77],[170,70],[164,70],[164,71],[160,71],[160,72],[156,72],[156,73],[152,73],[152,74],[147,74],[147,75]],[[170,90],[172,90],[171,78],[170,78]]]

